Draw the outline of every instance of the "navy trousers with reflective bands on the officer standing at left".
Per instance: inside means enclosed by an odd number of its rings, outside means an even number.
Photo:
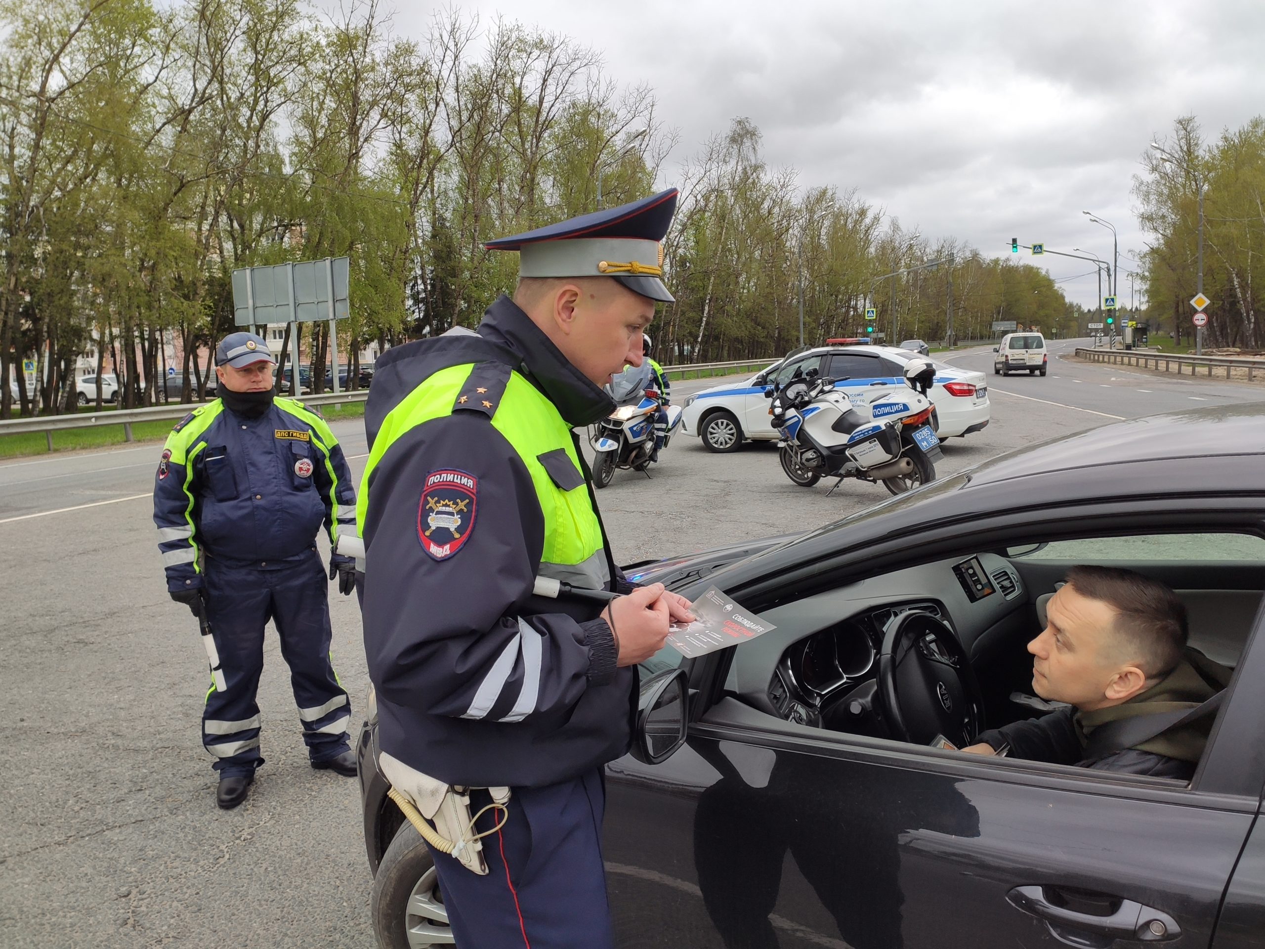
[[[211,686],[202,711],[202,744],[220,777],[253,774],[259,755],[256,691],[263,672],[263,629],[273,620],[281,655],[299,705],[304,741],[312,762],[349,750],[352,705],[330,661],[329,581],[311,552],[277,568],[238,566],[207,555],[206,615],[220,654],[226,690]]]

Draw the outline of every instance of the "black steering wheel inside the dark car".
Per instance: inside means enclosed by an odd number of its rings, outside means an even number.
[[[892,738],[965,748],[984,730],[984,697],[966,650],[937,616],[910,610],[883,631],[878,701]]]

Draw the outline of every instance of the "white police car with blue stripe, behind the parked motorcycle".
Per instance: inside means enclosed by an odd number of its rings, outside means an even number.
[[[688,396],[682,430],[702,438],[712,452],[732,452],[744,439],[774,440],[778,433],[770,424],[769,400],[764,397],[774,382],[786,385],[798,369],[805,373],[817,369],[822,376],[840,380],[835,388],[860,397],[863,390],[873,395],[879,387],[904,388],[904,364],[920,358],[926,357],[887,345],[822,345],[792,353],[745,382],[713,386]],[[969,435],[988,425],[992,407],[984,373],[931,362],[936,367],[930,392],[936,434],[941,439]]]

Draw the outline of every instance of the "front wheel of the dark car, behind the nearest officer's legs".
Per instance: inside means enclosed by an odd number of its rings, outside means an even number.
[[[381,949],[455,945],[435,862],[409,821],[401,825],[378,864],[369,891],[369,917]]]

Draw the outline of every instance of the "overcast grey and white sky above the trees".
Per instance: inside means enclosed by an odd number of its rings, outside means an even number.
[[[423,35],[430,4],[400,4]],[[1130,196],[1152,135],[1193,113],[1209,137],[1265,113],[1265,0],[1032,4],[1022,0],[467,0],[598,49],[610,75],[649,82],[681,133],[677,162],[737,115],[768,162],[802,185],[855,187],[906,229],[984,254],[1009,239],[1125,259],[1150,239]],[[1092,263],[1031,258],[1055,278]],[[1061,283],[1092,306],[1097,281]],[[1106,287],[1104,287],[1106,292]],[[1128,280],[1121,294],[1128,300]],[[1192,288],[1193,292],[1193,288]]]

